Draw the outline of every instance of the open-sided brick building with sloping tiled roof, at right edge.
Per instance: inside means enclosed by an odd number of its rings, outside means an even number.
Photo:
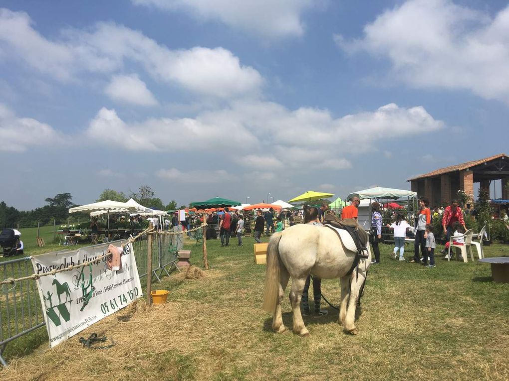
[[[408,179],[413,192],[419,197],[430,200],[430,205],[448,204],[456,198],[458,190],[473,195],[473,184],[479,182],[481,188],[488,193],[492,180],[502,179],[502,199],[509,199],[507,180],[509,180],[509,157],[500,153],[481,160],[466,162],[437,169],[417,177]],[[474,195],[477,196],[477,195]]]

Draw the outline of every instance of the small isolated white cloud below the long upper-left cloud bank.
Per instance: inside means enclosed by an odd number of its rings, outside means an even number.
[[[136,74],[116,75],[106,86],[104,92],[112,100],[138,106],[156,106],[157,101],[145,82]]]

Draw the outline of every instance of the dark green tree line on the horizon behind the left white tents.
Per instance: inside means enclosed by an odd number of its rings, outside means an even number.
[[[124,192],[117,192],[114,189],[106,188],[99,195],[96,202],[112,200],[126,202],[129,198],[133,198],[138,203],[151,209],[158,210],[175,210],[177,203],[172,200],[168,204],[163,204],[160,198],[154,197],[155,193],[148,185],[142,185],[138,188],[137,192],[129,192],[126,196]],[[72,213],[69,214],[69,208],[79,206],[72,202],[70,193],[60,193],[54,197],[47,197],[44,199],[46,205],[32,210],[18,210],[13,206],[7,205],[5,201],[0,202],[0,228],[31,228],[53,224],[61,225],[66,224],[68,220],[74,223],[76,220],[81,221],[88,219],[88,213]],[[186,206],[182,205],[179,209]]]

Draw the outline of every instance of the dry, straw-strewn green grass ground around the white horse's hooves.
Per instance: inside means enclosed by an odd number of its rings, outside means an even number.
[[[509,379],[509,284],[494,283],[488,264],[438,257],[428,269],[394,261],[392,247],[381,245],[382,264],[370,269],[356,322],[359,334],[343,333],[338,312],[323,304],[328,315],[305,317],[311,336],[302,338],[291,329],[271,331],[272,318],[261,308],[265,266],[253,263],[252,238],[243,247],[232,243],[221,248],[219,240],[208,241],[211,269],[204,278],[172,274],[156,283],[153,289],[170,291],[167,303],[150,310],[138,303],[80,334],[105,333],[114,348],[88,350],[80,335],[53,350],[46,341],[32,354],[11,356],[0,378]],[[202,266],[200,246],[187,247],[193,264]],[[509,255],[506,245],[485,250],[487,257]],[[323,280],[322,292],[338,303],[336,280]],[[283,310],[291,328],[288,298]],[[40,338],[25,343],[38,344]]]

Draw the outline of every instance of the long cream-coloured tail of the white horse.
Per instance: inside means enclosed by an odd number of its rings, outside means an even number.
[[[265,292],[263,298],[263,309],[266,312],[274,313],[279,298],[279,240],[282,233],[274,234],[267,247],[267,270],[265,272]]]

